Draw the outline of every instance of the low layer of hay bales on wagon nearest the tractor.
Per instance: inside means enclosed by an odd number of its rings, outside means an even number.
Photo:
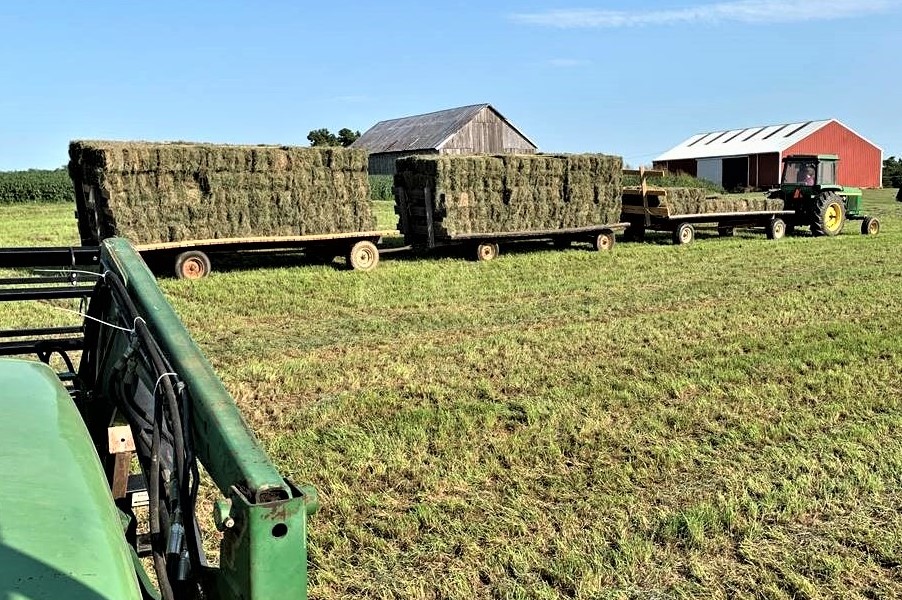
[[[637,189],[623,192],[627,206],[642,206],[642,194]],[[670,215],[783,210],[783,201],[760,197],[732,197],[711,195],[701,188],[666,188],[663,196],[648,196],[649,208],[666,208]]]

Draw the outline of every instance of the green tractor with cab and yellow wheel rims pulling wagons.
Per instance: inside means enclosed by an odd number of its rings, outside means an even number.
[[[783,159],[783,179],[770,198],[783,200],[795,217],[788,229],[808,225],[816,236],[839,235],[847,220],[861,221],[861,233],[877,235],[880,221],[862,212],[861,190],[836,183],[839,157],[835,154],[787,156]]]

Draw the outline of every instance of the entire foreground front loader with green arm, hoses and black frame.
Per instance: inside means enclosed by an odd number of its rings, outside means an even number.
[[[316,491],[280,475],[126,240],[111,238],[94,249],[0,249],[0,268],[59,265],[59,257],[70,263],[61,279],[71,285],[0,285],[0,300],[81,295],[89,300],[82,337],[48,339],[52,328],[23,329],[23,336],[37,337],[0,341],[0,355],[32,352],[47,363],[54,353],[65,357],[75,372],[59,379],[69,386],[111,489],[116,456],[108,448],[108,428],[129,425],[150,502],[150,533],[134,532],[131,505],[115,492],[110,510],[115,514],[118,507],[127,523],[124,538],[144,597],[306,598],[307,517],[318,507]],[[93,287],[77,285],[85,281]],[[78,350],[76,370],[66,353]],[[224,496],[214,507],[222,533],[215,568],[206,564],[194,519],[197,463]],[[137,560],[142,553],[154,559],[154,587]]]

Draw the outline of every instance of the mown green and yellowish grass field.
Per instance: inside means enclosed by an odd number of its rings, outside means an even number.
[[[894,191],[865,195],[873,238],[280,259],[161,286],[321,493],[313,598],[900,597]],[[2,206],[0,244],[75,242],[70,215]]]

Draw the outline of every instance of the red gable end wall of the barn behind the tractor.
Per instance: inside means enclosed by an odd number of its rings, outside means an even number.
[[[836,121],[783,152],[783,156],[790,154],[839,155],[837,178],[840,185],[878,188],[883,183],[883,153],[880,148]]]

